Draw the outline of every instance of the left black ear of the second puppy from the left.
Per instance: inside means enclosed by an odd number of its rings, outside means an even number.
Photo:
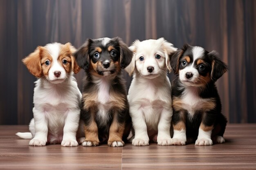
[[[88,38],[88,40],[86,40],[86,42],[76,52],[73,53],[77,64],[85,71],[87,71],[90,66],[89,47],[92,42],[93,40]]]

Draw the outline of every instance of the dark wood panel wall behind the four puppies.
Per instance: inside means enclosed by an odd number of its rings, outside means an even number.
[[[256,123],[255,0],[0,0],[0,124],[28,124],[36,80],[21,60],[36,46],[160,37],[216,50],[229,64],[218,90],[231,123]],[[82,87],[81,71],[76,75]],[[131,78],[126,73],[127,86]],[[170,74],[173,79],[173,74]]]

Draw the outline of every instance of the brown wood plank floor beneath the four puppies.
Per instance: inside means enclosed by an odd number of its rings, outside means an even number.
[[[18,131],[28,126],[0,126],[0,170],[256,169],[256,124],[229,124],[213,146],[33,147]]]

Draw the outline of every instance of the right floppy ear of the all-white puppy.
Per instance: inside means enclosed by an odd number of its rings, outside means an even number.
[[[165,64],[169,72],[171,72],[171,64],[170,64],[170,54],[177,51],[177,48],[173,46],[172,43],[166,41],[164,38],[159,38],[157,41],[162,42],[162,48],[164,50],[164,56],[165,56]]]

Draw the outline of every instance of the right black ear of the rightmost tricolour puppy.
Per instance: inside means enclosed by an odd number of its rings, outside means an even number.
[[[209,57],[212,58],[211,63],[211,79],[216,82],[224,73],[228,71],[228,66],[220,60],[216,51],[208,53]]]

